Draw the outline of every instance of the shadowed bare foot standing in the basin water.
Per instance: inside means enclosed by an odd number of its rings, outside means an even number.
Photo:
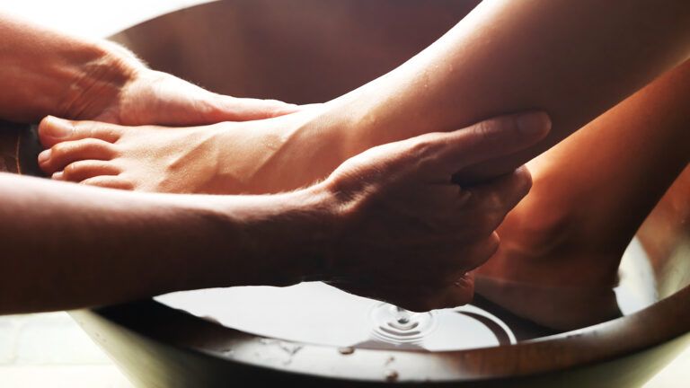
[[[499,250],[476,270],[476,290],[557,330],[620,316],[613,287],[626,243],[607,240],[610,231],[598,234],[581,211],[586,197],[553,196],[553,174],[563,172],[550,170],[547,156],[528,163],[533,189],[500,225]]]

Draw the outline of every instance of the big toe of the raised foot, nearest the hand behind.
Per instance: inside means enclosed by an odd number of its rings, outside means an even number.
[[[116,142],[122,128],[97,121],[72,121],[48,116],[39,124],[40,143],[51,147],[65,141],[97,138],[109,143]]]

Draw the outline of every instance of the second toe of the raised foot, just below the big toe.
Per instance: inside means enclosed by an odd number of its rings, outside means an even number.
[[[115,145],[106,141],[85,138],[57,143],[39,154],[39,166],[43,172],[61,171],[69,163],[83,160],[111,160],[116,154]]]

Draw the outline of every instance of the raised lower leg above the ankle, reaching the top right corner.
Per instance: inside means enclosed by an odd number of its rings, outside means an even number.
[[[505,172],[681,62],[688,26],[685,1],[483,2],[403,66],[332,101],[331,113],[354,128],[347,143],[356,154],[499,112],[549,112],[544,142],[480,174]]]

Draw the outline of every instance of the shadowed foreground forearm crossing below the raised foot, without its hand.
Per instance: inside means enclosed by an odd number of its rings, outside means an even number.
[[[146,195],[7,174],[0,193],[0,313],[296,282],[318,246],[298,193]]]

